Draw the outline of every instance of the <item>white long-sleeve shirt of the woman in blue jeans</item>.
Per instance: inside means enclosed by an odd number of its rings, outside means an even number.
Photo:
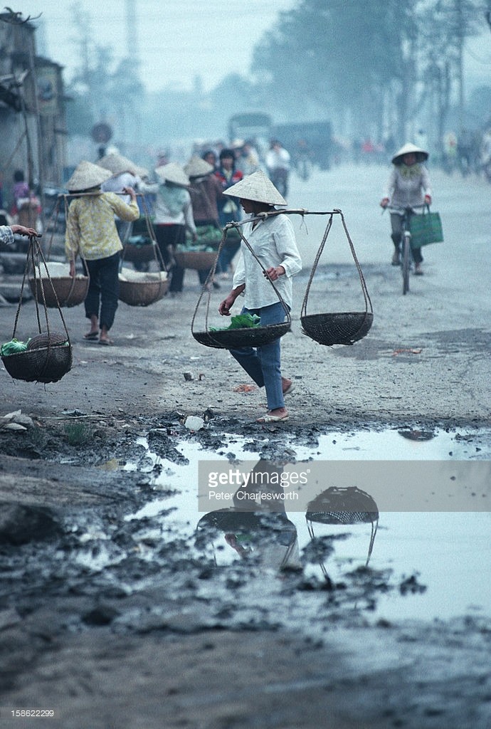
[[[283,266],[285,275],[274,282],[283,301],[291,308],[293,300],[292,277],[302,270],[302,259],[296,247],[291,220],[284,214],[260,220],[256,227],[245,223],[243,236],[265,269]],[[262,308],[278,303],[271,282],[265,278],[261,266],[242,241],[240,257],[235,269],[233,288],[245,284],[244,305],[248,309]]]

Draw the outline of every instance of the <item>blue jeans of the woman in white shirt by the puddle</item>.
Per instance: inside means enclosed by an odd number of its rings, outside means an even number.
[[[270,306],[259,309],[243,308],[243,314],[257,314],[261,317],[261,326],[268,324],[281,324],[285,321],[285,309],[278,301]],[[284,408],[283,386],[281,383],[281,340],[275,339],[270,344],[261,347],[243,347],[231,349],[230,354],[237,359],[240,367],[248,373],[258,387],[266,389],[267,408],[276,410]]]

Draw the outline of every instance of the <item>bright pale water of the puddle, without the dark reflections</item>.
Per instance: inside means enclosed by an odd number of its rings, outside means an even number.
[[[321,436],[318,446],[291,445],[298,461],[304,459],[337,460],[480,460],[489,459],[487,443],[491,433],[437,431],[432,434],[411,434],[406,437],[396,430],[385,432],[333,433]],[[246,441],[237,436],[223,437],[221,453],[233,453],[239,461],[259,460],[250,450],[244,450]],[[146,446],[146,440],[139,441]],[[264,441],[267,443],[267,440]],[[181,537],[192,539],[203,512],[198,511],[197,472],[200,460],[223,459],[216,453],[204,451],[200,443],[176,444],[189,464],[176,465],[160,459],[149,451],[153,464],[160,464],[160,474],[152,482],[157,498],[128,520],[157,517],[162,523],[172,524]],[[250,440],[249,445],[250,446]],[[147,447],[147,446],[146,446]],[[148,471],[152,470],[152,465]],[[135,469],[128,464],[127,469]],[[175,489],[173,496],[158,498],[158,490]],[[168,510],[175,510],[168,515]],[[164,512],[166,512],[164,514]],[[311,543],[305,513],[288,512],[288,519],[296,528],[300,553]],[[162,516],[159,517],[162,513]],[[404,596],[398,590],[377,595],[371,619],[388,620],[439,618],[447,620],[461,615],[491,615],[490,547],[491,515],[489,512],[382,512],[374,539],[369,566],[374,571],[390,570],[392,583],[404,585]],[[334,553],[319,564],[308,564],[305,574],[320,579],[323,569],[333,582],[343,580],[366,563],[371,525],[315,524],[315,537],[336,536]],[[245,545],[247,547],[247,545]],[[232,548],[225,539],[219,545],[219,564],[237,559],[237,545]],[[322,569],[323,566],[323,569]]]

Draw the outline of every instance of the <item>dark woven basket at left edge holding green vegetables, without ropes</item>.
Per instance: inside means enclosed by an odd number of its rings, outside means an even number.
[[[71,345],[65,343],[66,335],[58,332],[50,332],[49,342],[46,346],[48,335],[42,334],[34,337],[25,351],[2,356],[9,375],[25,382],[58,382],[71,370]]]

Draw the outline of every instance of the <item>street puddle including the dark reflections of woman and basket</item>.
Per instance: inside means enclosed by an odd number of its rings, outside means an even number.
[[[297,461],[489,458],[487,448],[476,435],[437,431],[429,439],[408,439],[401,434],[396,430],[329,434],[319,437],[318,445],[313,447],[291,443],[291,453]],[[328,508],[327,502],[322,506],[319,502],[310,504],[307,518],[305,512],[288,512],[288,504],[284,512],[272,514],[266,510],[260,518],[256,511],[247,515],[239,513],[237,504],[204,515],[198,510],[199,461],[254,459],[250,442],[245,443],[237,436],[224,435],[222,439],[225,445],[219,455],[203,450],[195,441],[176,443],[183,455],[179,464],[157,456],[148,450],[146,440],[141,439],[141,445],[147,449],[145,470],[152,474],[157,499],[127,520],[157,519],[165,525],[162,533],[167,531],[172,538],[186,539],[189,549],[195,550],[197,556],[217,566],[250,560],[267,572],[282,566],[295,569],[302,564],[305,580],[325,581],[328,586],[339,586],[347,580],[369,582],[377,575],[392,575],[392,585],[398,585],[398,590],[377,591],[376,599],[360,601],[355,606],[369,608],[373,620],[447,620],[469,613],[491,614],[488,512],[381,511],[379,514],[377,503],[369,494],[364,495],[364,504],[358,499],[346,505],[339,499],[347,494],[339,493],[338,489],[337,494],[332,491],[327,496],[324,494],[325,499],[330,496],[331,503],[338,499],[335,507]],[[261,448],[259,440],[255,445],[258,450]],[[256,459],[260,459],[259,453]],[[259,462],[263,467],[268,463]],[[127,469],[136,466],[129,464]],[[165,496],[158,498],[159,491]],[[240,511],[243,512],[243,505]],[[334,518],[332,512],[338,515],[344,512],[344,520]],[[270,577],[267,580],[269,587]],[[262,588],[256,585],[254,594],[266,601],[264,581],[261,585]]]

